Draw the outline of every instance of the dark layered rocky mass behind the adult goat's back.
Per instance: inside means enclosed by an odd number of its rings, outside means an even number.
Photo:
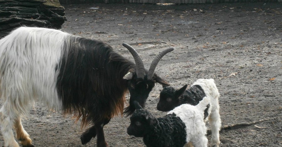
[[[59,0],[1,0],[0,37],[22,25],[61,28],[67,20],[64,15]]]

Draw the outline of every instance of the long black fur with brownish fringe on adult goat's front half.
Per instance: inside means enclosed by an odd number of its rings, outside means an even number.
[[[123,76],[135,64],[98,40],[71,36],[65,50],[57,80],[63,112],[82,116],[81,127],[122,114],[128,91]]]

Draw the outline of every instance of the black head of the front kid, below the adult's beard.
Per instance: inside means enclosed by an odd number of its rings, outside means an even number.
[[[143,137],[149,131],[150,126],[156,122],[156,119],[149,111],[143,109],[137,101],[133,103],[136,110],[130,117],[127,134],[134,135],[135,137]]]

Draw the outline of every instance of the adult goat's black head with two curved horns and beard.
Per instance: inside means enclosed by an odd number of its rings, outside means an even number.
[[[159,60],[166,53],[173,51],[174,48],[168,48],[159,53],[152,61],[149,71],[147,71],[145,70],[143,61],[138,53],[126,43],[123,43],[123,46],[130,51],[136,64],[136,69],[130,69],[129,72],[123,77],[123,79],[126,79],[128,81],[128,90],[130,93],[129,106],[125,108],[125,111],[123,112],[123,114],[127,114],[128,116],[135,110],[133,101],[137,101],[141,105],[141,107],[145,106],[149,93],[152,91],[155,83],[166,86],[170,85],[168,82],[154,73],[154,70]]]

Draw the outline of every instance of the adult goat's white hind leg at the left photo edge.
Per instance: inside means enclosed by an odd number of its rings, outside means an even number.
[[[0,109],[0,126],[4,140],[4,147],[19,147],[13,134],[13,115],[5,109],[5,105]]]

